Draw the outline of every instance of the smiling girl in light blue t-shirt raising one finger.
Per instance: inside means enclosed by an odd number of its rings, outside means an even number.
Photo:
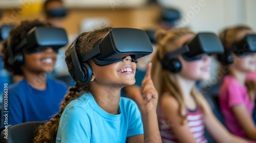
[[[135,83],[136,60],[152,52],[148,36],[139,29],[103,27],[80,34],[66,51],[76,85],[34,141],[161,142],[151,64],[138,105],[120,96],[122,87]]]

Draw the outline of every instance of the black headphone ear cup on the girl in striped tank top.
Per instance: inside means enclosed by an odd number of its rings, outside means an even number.
[[[172,73],[179,73],[181,70],[181,62],[178,59],[169,59],[166,61],[161,61],[162,67],[169,70]]]

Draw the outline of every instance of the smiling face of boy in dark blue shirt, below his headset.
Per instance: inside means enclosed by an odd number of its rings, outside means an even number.
[[[51,47],[46,47],[42,52],[26,54],[24,53],[25,63],[22,68],[31,73],[49,73],[53,71],[56,63],[57,53]]]

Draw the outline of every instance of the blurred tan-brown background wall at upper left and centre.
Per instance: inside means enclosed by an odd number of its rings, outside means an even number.
[[[35,10],[34,7],[37,7]],[[2,9],[3,16],[0,25],[6,23],[19,23],[21,20],[39,18],[45,20],[45,16],[39,9],[38,4],[31,4],[20,12],[18,7]],[[68,15],[63,20],[61,27],[67,30],[69,35],[81,32],[81,23],[85,19],[105,18],[114,27],[133,27],[133,28],[158,28],[160,7],[157,5],[143,5],[141,7],[111,7],[106,8],[77,8],[68,7]]]

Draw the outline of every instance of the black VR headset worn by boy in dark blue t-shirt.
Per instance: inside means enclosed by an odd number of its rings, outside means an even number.
[[[18,63],[18,65],[24,63],[24,57],[22,51],[31,54],[36,52],[42,52],[46,47],[52,47],[57,52],[62,46],[68,43],[67,33],[62,28],[53,27],[34,27],[27,32],[26,37],[20,41],[12,49],[10,37],[7,41],[10,58],[8,59],[11,65]],[[14,53],[17,53],[13,55]]]

